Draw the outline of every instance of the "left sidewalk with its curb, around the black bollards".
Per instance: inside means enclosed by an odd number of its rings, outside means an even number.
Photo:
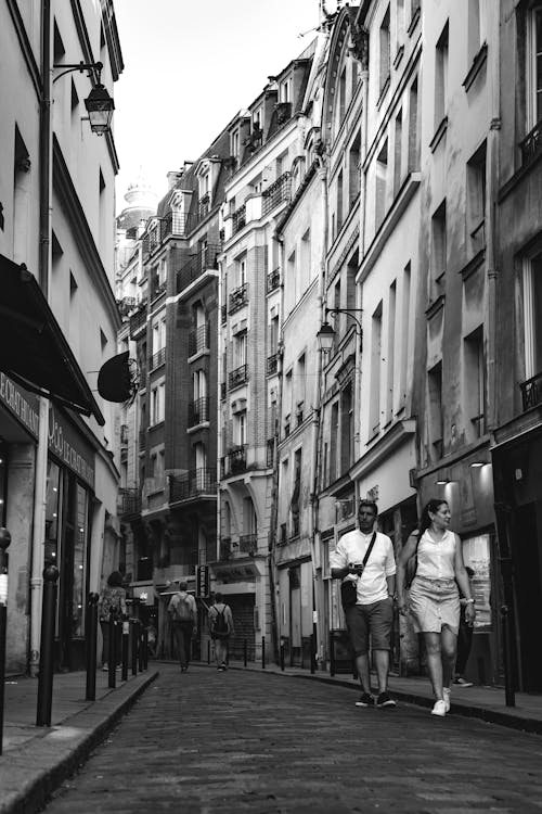
[[[117,688],[109,689],[107,673],[99,672],[96,700],[86,701],[86,673],[56,674],[51,727],[35,726],[38,681],[7,679],[0,814],[39,811],[157,675],[155,662],[125,683],[117,672]]]

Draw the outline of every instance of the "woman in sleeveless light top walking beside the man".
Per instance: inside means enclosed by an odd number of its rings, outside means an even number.
[[[460,627],[460,593],[465,598],[465,618],[475,619],[470,583],[463,562],[461,540],[450,531],[450,507],[446,500],[429,500],[420,530],[412,532],[397,560],[397,601],[400,613],[411,613],[414,631],[424,636],[427,667],[435,696],[433,715],[450,710],[457,631]],[[404,595],[405,567],[417,555],[417,568]]]

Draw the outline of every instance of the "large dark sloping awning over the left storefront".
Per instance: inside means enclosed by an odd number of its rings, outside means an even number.
[[[102,416],[43,292],[26,266],[0,254],[0,370],[83,416]]]

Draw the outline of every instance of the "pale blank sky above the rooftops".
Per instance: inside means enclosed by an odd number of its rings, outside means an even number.
[[[115,0],[115,12],[125,62],[114,119],[120,211],[141,169],[162,198],[168,170],[197,158],[309,46],[319,0]]]

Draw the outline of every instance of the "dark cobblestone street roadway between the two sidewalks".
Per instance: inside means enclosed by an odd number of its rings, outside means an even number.
[[[46,811],[541,811],[542,738],[356,698],[293,677],[160,665]]]

